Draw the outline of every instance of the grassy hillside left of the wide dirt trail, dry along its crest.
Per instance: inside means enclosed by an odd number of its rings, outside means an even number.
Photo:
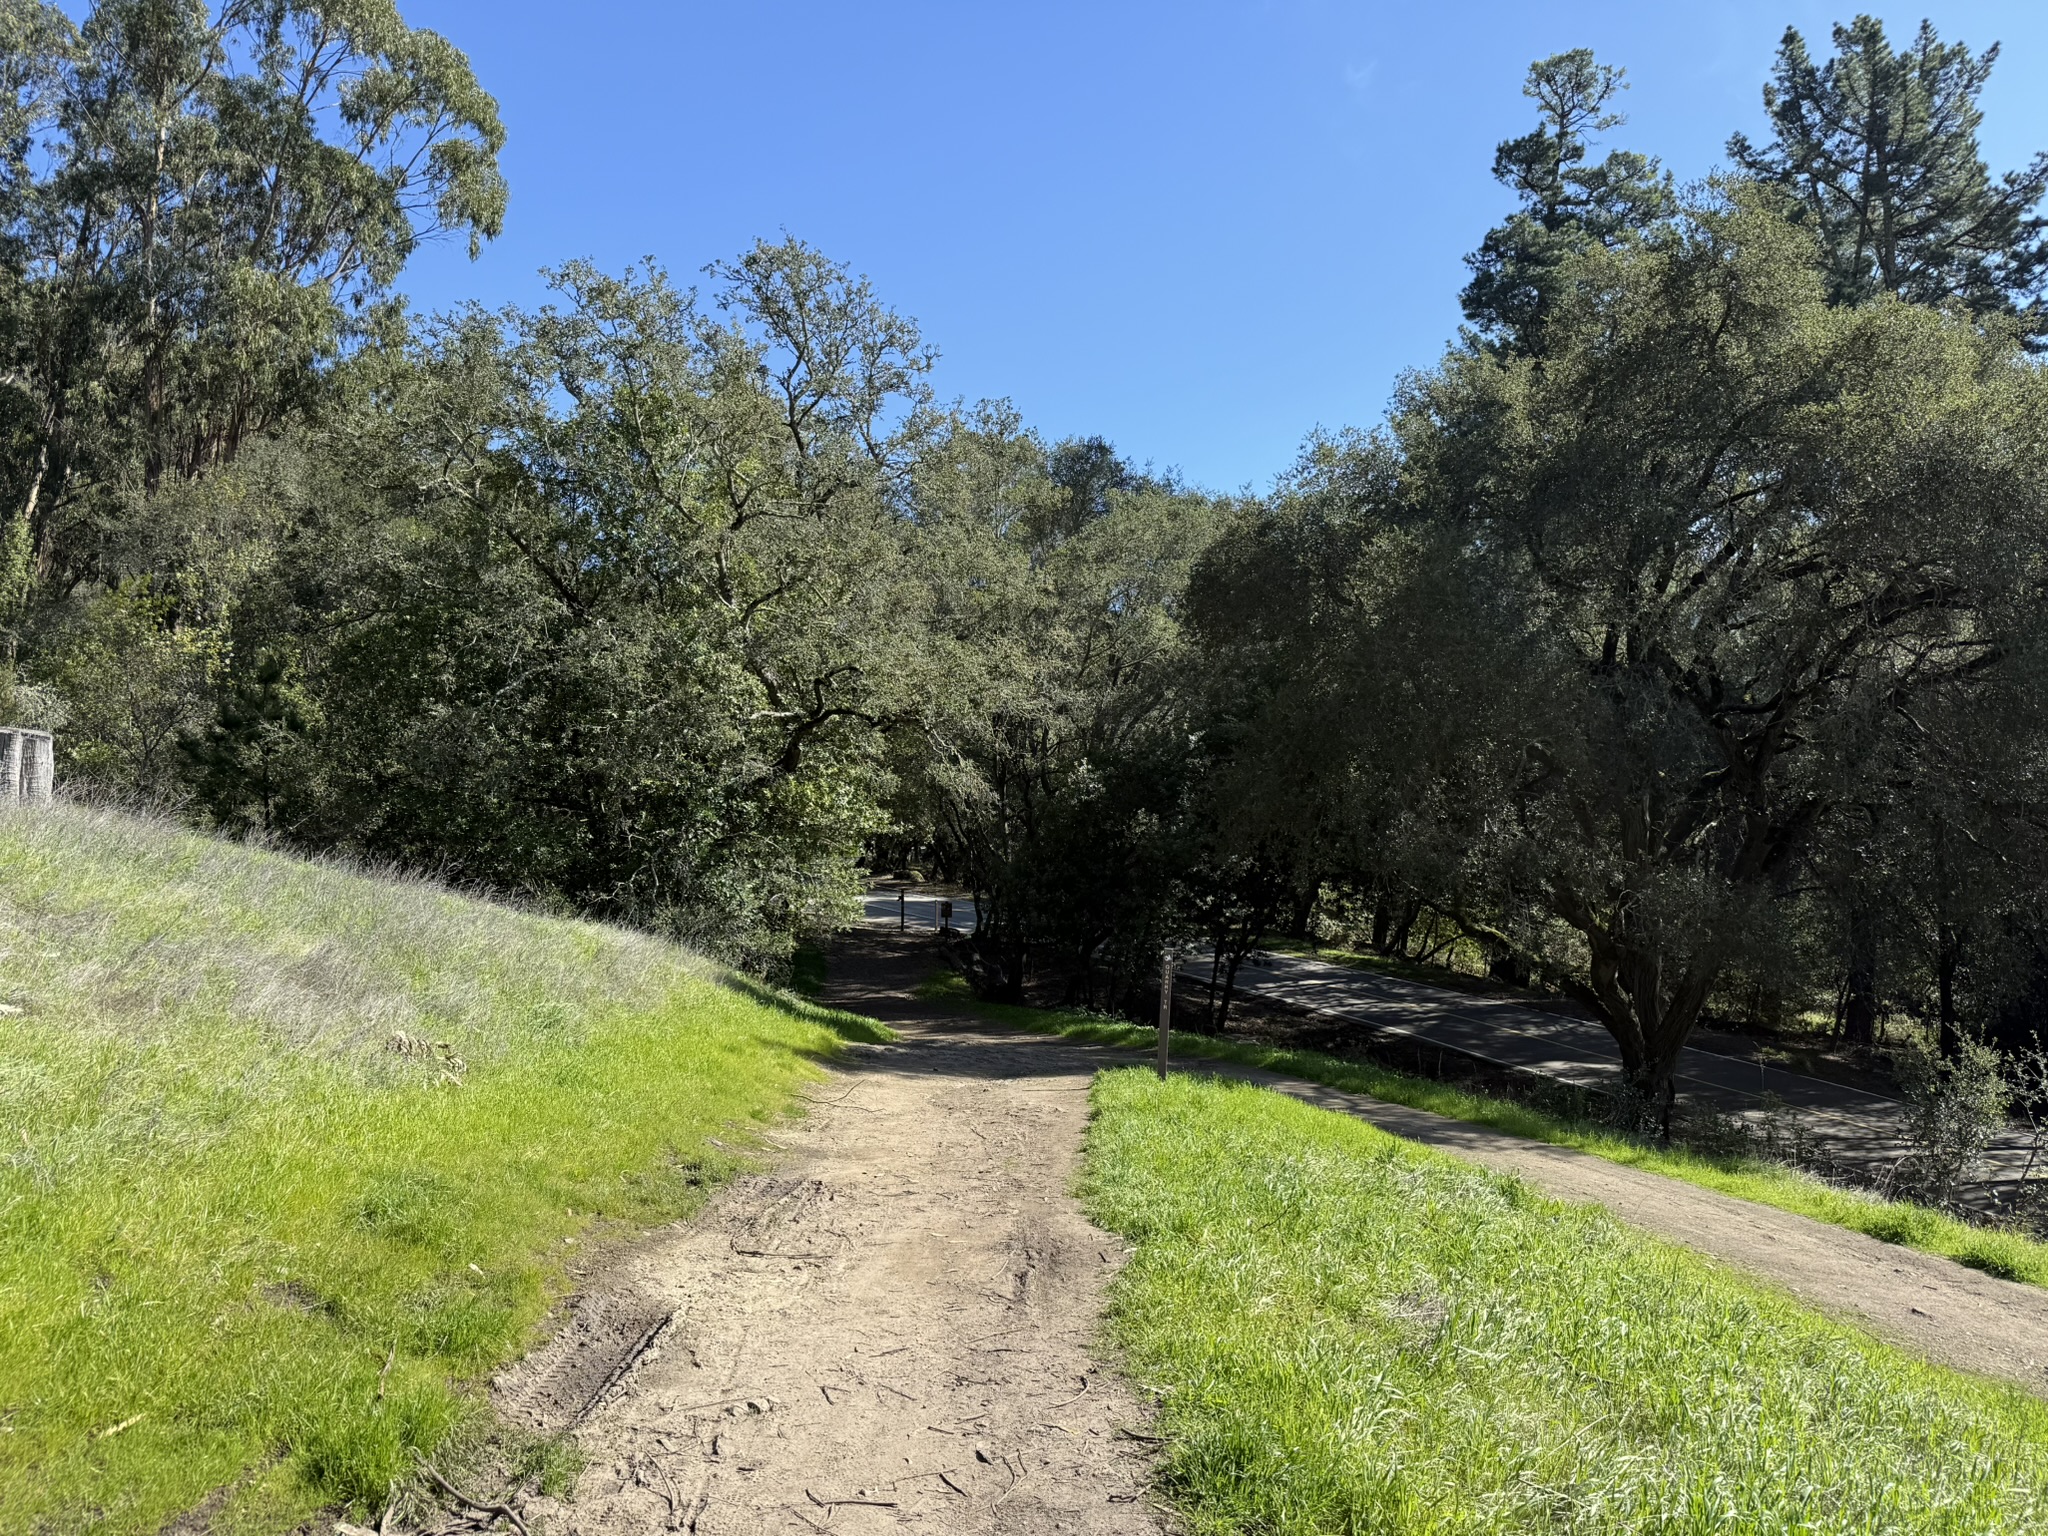
[[[373,1513],[475,1440],[571,1260],[700,1204],[874,1028],[68,807],[0,815],[0,1532]]]

